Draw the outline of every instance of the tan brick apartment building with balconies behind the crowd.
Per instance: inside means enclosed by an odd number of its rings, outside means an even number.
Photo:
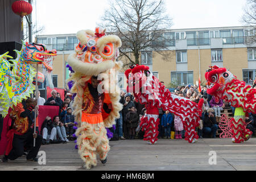
[[[204,74],[210,65],[225,67],[239,80],[251,84],[256,76],[256,44],[249,44],[249,40],[254,35],[255,30],[246,26],[166,30],[163,43],[167,49],[163,51],[170,51],[170,57],[164,60],[157,52],[142,51],[141,64],[150,67],[150,71],[166,86],[171,82],[196,84],[199,77],[205,84]],[[68,55],[78,44],[76,34],[39,35],[37,42],[57,50],[53,82],[58,88],[67,88],[65,80],[69,71],[65,66]],[[118,80],[119,87],[125,89],[123,71],[118,74]]]

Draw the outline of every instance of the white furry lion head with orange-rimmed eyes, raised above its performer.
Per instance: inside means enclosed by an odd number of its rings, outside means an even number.
[[[73,71],[86,76],[98,74],[112,69],[119,56],[118,48],[121,39],[116,35],[106,35],[105,29],[96,27],[95,31],[81,30],[77,32],[79,44],[75,53],[69,55],[68,64]]]

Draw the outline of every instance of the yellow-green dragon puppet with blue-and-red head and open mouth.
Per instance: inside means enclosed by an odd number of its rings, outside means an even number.
[[[16,52],[16,59],[8,56],[8,52],[0,55],[0,114],[5,117],[9,107],[16,106],[23,98],[30,97],[35,90],[32,84],[36,76],[32,64],[43,64],[49,73],[52,71],[53,56],[56,50],[48,51],[43,44],[25,43],[22,49]],[[49,82],[51,80],[48,80]]]

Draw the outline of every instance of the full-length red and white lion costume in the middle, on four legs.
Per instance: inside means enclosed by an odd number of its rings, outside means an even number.
[[[144,140],[147,140],[148,144],[154,144],[158,140],[158,108],[162,108],[180,117],[185,130],[185,140],[189,143],[196,142],[199,137],[195,129],[200,123],[203,99],[197,104],[171,94],[148,69],[145,65],[131,65],[130,69],[125,71],[127,92],[134,93],[136,100],[146,104],[147,112],[140,124],[145,131]]]

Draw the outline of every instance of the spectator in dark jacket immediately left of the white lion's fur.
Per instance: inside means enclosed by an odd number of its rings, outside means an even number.
[[[67,130],[68,139],[73,140],[73,126],[75,126],[75,117],[72,115],[71,107],[68,107],[67,114],[65,114],[64,125]]]

